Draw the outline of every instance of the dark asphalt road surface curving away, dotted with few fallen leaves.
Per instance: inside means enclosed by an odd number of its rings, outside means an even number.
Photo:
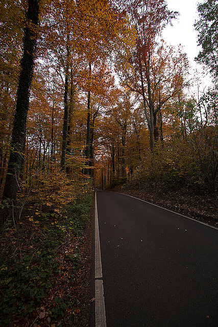
[[[218,229],[97,192],[107,327],[218,326]]]

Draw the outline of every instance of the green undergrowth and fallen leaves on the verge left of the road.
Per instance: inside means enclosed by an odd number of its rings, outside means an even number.
[[[74,325],[74,281],[91,205],[89,191],[52,213],[27,211],[19,228],[7,221],[0,250],[1,326]]]

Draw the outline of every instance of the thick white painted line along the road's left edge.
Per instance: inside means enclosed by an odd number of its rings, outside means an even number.
[[[94,242],[94,261],[95,261],[95,327],[106,327],[105,316],[105,300],[104,300],[104,288],[102,279],[102,261],[101,261],[101,248],[99,238],[99,219],[97,199],[95,192],[95,205],[94,205],[94,225],[95,225],[95,242]]]

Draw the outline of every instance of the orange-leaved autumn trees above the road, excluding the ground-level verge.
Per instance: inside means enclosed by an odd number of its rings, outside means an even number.
[[[161,38],[178,15],[164,0],[3,1],[3,199],[61,206],[87,179],[142,176],[216,193],[217,2],[198,10],[214,88],[193,97],[186,54]]]

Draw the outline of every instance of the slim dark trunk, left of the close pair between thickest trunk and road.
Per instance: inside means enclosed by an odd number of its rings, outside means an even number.
[[[63,141],[61,151],[61,170],[65,169],[66,160],[66,143],[67,143],[67,126],[68,126],[68,74],[69,74],[69,35],[67,35],[66,45],[66,72],[65,72],[65,83],[64,83],[64,123],[63,123]]]

